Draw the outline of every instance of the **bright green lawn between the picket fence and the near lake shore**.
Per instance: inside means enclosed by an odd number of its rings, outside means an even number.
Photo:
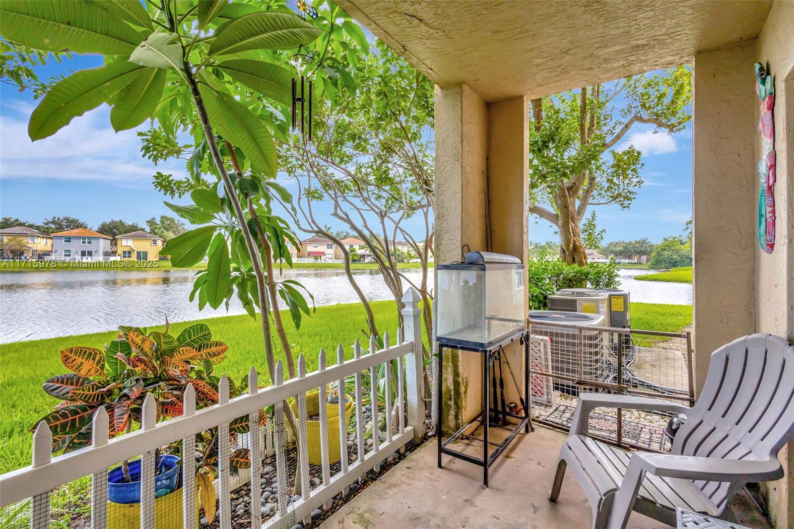
[[[372,309],[381,332],[388,330],[394,343],[397,326],[395,304],[375,302],[372,303]],[[293,344],[295,361],[299,353],[305,354],[307,371],[317,368],[317,354],[321,347],[326,349],[329,363],[335,364],[337,344],[343,344],[345,357],[352,358],[353,349],[350,346],[356,338],[360,338],[364,344],[368,343],[362,331],[366,328],[364,309],[359,304],[318,307],[313,317],[303,318],[299,331],[292,326],[288,312],[283,316],[287,335]],[[229,345],[226,360],[216,368],[218,373],[226,373],[237,382],[249,372],[251,365],[255,365],[260,372],[260,384],[270,384],[262,345],[262,327],[258,320],[242,315],[203,321],[210,326],[214,339]],[[172,334],[179,334],[191,323],[173,323]],[[160,327],[158,329],[161,330]],[[155,328],[149,327],[148,330]],[[50,376],[67,373],[60,363],[60,350],[69,346],[101,348],[116,334],[116,331],[108,331],[0,345],[0,473],[30,464],[28,429],[58,402],[44,393],[41,384]],[[283,359],[283,350],[278,340],[276,343],[277,357]]]

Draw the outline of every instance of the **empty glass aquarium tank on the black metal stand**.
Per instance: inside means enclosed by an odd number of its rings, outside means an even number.
[[[436,339],[486,349],[525,326],[524,265],[437,264]]]

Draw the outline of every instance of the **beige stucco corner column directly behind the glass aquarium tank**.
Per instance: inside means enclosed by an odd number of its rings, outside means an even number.
[[[465,84],[436,87],[435,258],[461,260],[461,246],[526,258],[526,102],[512,98],[487,104]],[[490,188],[492,248],[487,247],[486,185]],[[525,281],[526,284],[526,281]],[[510,354],[521,384],[520,355]],[[481,359],[475,353],[445,350],[446,433],[476,415],[481,405]],[[511,380],[506,377],[507,398]]]

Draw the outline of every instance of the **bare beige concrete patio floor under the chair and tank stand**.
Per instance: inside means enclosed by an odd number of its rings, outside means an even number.
[[[590,527],[592,513],[579,485],[565,476],[557,504],[546,499],[565,434],[536,427],[519,434],[491,466],[490,487],[482,469],[451,457],[437,468],[435,439],[426,442],[322,523],[323,529],[412,527]],[[743,495],[734,502],[738,521],[771,527]],[[633,513],[629,527],[668,527]]]

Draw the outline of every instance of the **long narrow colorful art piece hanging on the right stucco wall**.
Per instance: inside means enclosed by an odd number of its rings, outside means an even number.
[[[766,253],[775,249],[775,83],[769,70],[761,63],[755,64],[758,98],[761,99],[761,160],[758,160],[758,175],[761,176],[761,192],[758,194],[758,244]]]

